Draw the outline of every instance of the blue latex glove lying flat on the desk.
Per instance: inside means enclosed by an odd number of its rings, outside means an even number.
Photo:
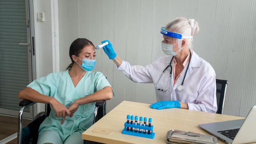
[[[176,101],[161,101],[150,105],[152,109],[169,109],[169,108],[180,108],[179,100]]]

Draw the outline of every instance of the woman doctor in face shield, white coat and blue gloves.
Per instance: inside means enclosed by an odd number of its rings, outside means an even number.
[[[103,49],[109,59],[134,82],[154,83],[157,102],[153,109],[182,108],[215,113],[215,72],[207,61],[192,50],[193,35],[198,33],[194,19],[177,18],[161,28],[163,52],[167,55],[147,66],[131,66],[122,60],[109,42]]]

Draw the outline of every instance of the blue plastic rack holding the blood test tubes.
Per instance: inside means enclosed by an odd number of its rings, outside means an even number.
[[[134,128],[134,129],[137,128],[138,131],[135,132],[135,130],[133,130],[133,131],[130,131],[130,129],[127,130],[127,127]],[[142,129],[142,132],[139,132],[139,129]],[[129,123],[125,122],[124,128],[122,130],[122,134],[154,139],[155,133],[153,132],[153,129],[154,129],[154,125],[151,125],[151,127],[149,127],[148,124],[146,126],[144,126],[144,124],[142,123],[142,125],[140,126],[140,125],[135,125],[135,123],[131,124],[130,122]],[[147,131],[146,131],[146,133],[143,133],[143,130],[151,130],[151,132],[150,132],[150,134],[148,134]]]

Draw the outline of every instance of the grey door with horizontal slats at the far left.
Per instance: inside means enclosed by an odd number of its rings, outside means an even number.
[[[28,0],[0,0],[0,114],[19,115],[17,95],[32,81],[29,18]]]

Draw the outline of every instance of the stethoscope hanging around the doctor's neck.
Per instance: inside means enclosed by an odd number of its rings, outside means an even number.
[[[190,61],[191,61],[191,51],[189,51],[189,54],[190,54],[190,55],[189,55],[189,64],[190,64]],[[174,58],[174,56],[172,57],[172,60],[173,60],[173,58]],[[163,70],[163,73],[162,73],[161,76],[159,77],[159,79],[158,79],[158,81],[157,81],[157,83],[156,83],[155,88],[157,87],[158,82],[160,81],[161,77],[162,77],[163,74],[165,73],[165,70],[167,70],[168,67],[170,67],[171,70],[170,70],[170,77],[169,77],[169,81],[168,81],[168,86],[167,86],[166,90],[163,90],[163,89],[160,89],[160,88],[156,88],[156,90],[158,90],[158,91],[161,90],[161,91],[165,92],[165,91],[167,91],[168,88],[169,88],[170,80],[171,80],[171,77],[172,77],[172,65],[171,65],[171,64],[172,64],[172,60],[170,61],[170,64]],[[177,87],[177,90],[178,90],[178,91],[183,91],[183,89],[184,89],[183,84],[184,84],[184,80],[185,80],[185,78],[186,78],[186,74],[187,74],[187,72],[188,72],[188,69],[189,69],[189,65],[188,65],[188,67],[187,67],[187,69],[186,69],[186,72],[185,72],[185,75],[184,75],[182,84]]]

